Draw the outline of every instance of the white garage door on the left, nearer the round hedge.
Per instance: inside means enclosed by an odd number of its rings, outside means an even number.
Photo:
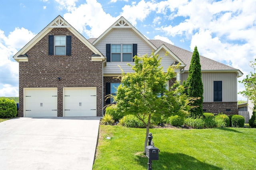
[[[24,88],[24,117],[57,117],[57,88]]]

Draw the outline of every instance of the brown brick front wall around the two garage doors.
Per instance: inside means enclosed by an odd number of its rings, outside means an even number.
[[[71,35],[71,56],[48,55],[48,35]],[[19,117],[24,115],[23,88],[58,88],[58,116],[63,116],[66,87],[96,87],[97,116],[102,116],[102,61],[91,61],[93,52],[67,28],[52,29],[26,54],[28,62],[19,63]]]

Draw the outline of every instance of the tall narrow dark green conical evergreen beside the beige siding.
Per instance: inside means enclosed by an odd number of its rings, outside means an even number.
[[[188,70],[188,79],[186,81],[187,94],[189,97],[198,98],[192,103],[190,109],[190,117],[198,117],[203,115],[202,104],[203,104],[203,83],[200,56],[197,51],[197,47],[194,48],[192,59]]]

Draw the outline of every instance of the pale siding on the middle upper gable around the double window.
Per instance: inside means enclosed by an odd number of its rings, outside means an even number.
[[[152,52],[152,47],[130,28],[114,28],[94,46],[106,56],[106,44],[137,44],[137,53],[139,55],[146,53],[150,55]],[[121,66],[124,72],[132,72],[127,63],[133,64],[133,62],[108,62],[104,66],[104,74],[121,74],[122,72],[118,65]]]

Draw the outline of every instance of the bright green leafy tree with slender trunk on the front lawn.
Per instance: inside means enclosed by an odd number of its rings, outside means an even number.
[[[146,126],[144,153],[152,117],[186,116],[190,109],[190,99],[182,93],[184,88],[178,82],[170,87],[170,91],[166,90],[166,81],[176,75],[175,68],[169,67],[164,73],[160,61],[161,58],[158,59],[158,55],[153,53],[150,56],[135,56],[134,66],[128,64],[134,72],[125,74],[121,68],[121,84],[116,96],[112,96],[118,112],[135,115]]]

